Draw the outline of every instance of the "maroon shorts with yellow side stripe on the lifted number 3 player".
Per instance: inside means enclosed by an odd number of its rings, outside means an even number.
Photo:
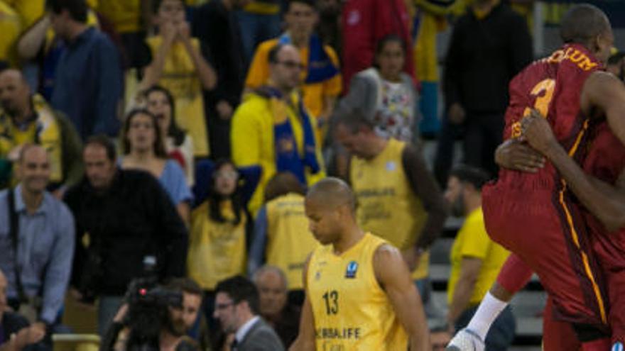
[[[538,274],[558,321],[607,324],[604,282],[579,209],[567,191],[488,185],[482,191],[489,236]]]

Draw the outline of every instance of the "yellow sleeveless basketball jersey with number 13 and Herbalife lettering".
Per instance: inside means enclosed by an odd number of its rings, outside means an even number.
[[[406,350],[408,335],[376,279],[373,259],[386,241],[366,233],[342,255],[332,245],[310,257],[307,294],[317,350]]]

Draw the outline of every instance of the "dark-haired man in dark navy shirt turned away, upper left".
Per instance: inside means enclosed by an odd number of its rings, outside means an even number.
[[[119,52],[104,33],[87,26],[85,0],[48,0],[50,22],[67,48],[59,57],[51,103],[65,113],[85,140],[119,130],[123,90]]]

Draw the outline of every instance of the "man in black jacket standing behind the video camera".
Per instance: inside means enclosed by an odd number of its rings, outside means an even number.
[[[89,138],[83,160],[85,179],[65,195],[76,221],[71,284],[83,301],[99,296],[103,335],[132,279],[184,274],[188,233],[158,180],[116,167],[107,137]]]

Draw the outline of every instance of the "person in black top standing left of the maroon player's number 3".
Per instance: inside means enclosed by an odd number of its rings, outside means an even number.
[[[435,174],[447,182],[455,135],[464,133],[464,163],[495,176],[510,79],[533,59],[526,21],[499,0],[476,0],[455,23],[443,77],[447,116]]]

